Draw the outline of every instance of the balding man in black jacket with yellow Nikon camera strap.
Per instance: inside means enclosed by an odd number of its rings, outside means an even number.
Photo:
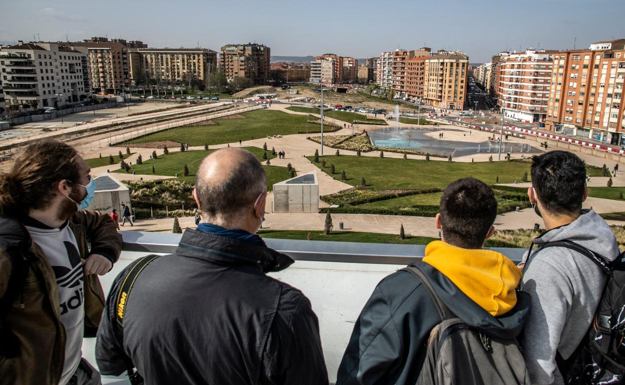
[[[114,281],[98,331],[101,372],[136,368],[146,384],[327,384],[310,301],[266,275],[293,260],[256,235],[267,198],[259,160],[212,153],[193,197],[202,222],[176,253],[136,261]]]

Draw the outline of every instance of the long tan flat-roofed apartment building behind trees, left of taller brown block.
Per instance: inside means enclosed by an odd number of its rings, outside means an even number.
[[[201,48],[129,48],[133,84],[147,79],[187,84],[204,82],[217,69],[217,52]]]

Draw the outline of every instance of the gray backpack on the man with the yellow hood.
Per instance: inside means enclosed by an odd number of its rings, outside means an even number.
[[[427,339],[426,359],[417,385],[530,384],[516,339],[488,336],[467,325],[447,308],[418,268],[408,266],[402,270],[419,278],[442,319]]]

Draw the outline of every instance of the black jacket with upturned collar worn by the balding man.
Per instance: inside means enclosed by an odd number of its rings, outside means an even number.
[[[186,230],[176,253],[150,263],[115,319],[120,278],[98,330],[103,374],[131,359],[146,384],[327,384],[309,300],[265,273],[293,260],[266,246]]]

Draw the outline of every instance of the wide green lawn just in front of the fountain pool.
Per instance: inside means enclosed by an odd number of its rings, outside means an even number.
[[[312,160],[314,157],[308,157]],[[374,188],[445,188],[449,183],[463,177],[475,177],[488,185],[521,181],[523,173],[529,174],[529,163],[519,162],[444,162],[402,158],[356,157],[331,155],[319,157],[326,161],[323,171],[340,178],[345,170],[346,183],[357,186],[364,177],[367,185]],[[334,163],[334,175],[330,164]],[[321,167],[321,163],[314,163]]]

